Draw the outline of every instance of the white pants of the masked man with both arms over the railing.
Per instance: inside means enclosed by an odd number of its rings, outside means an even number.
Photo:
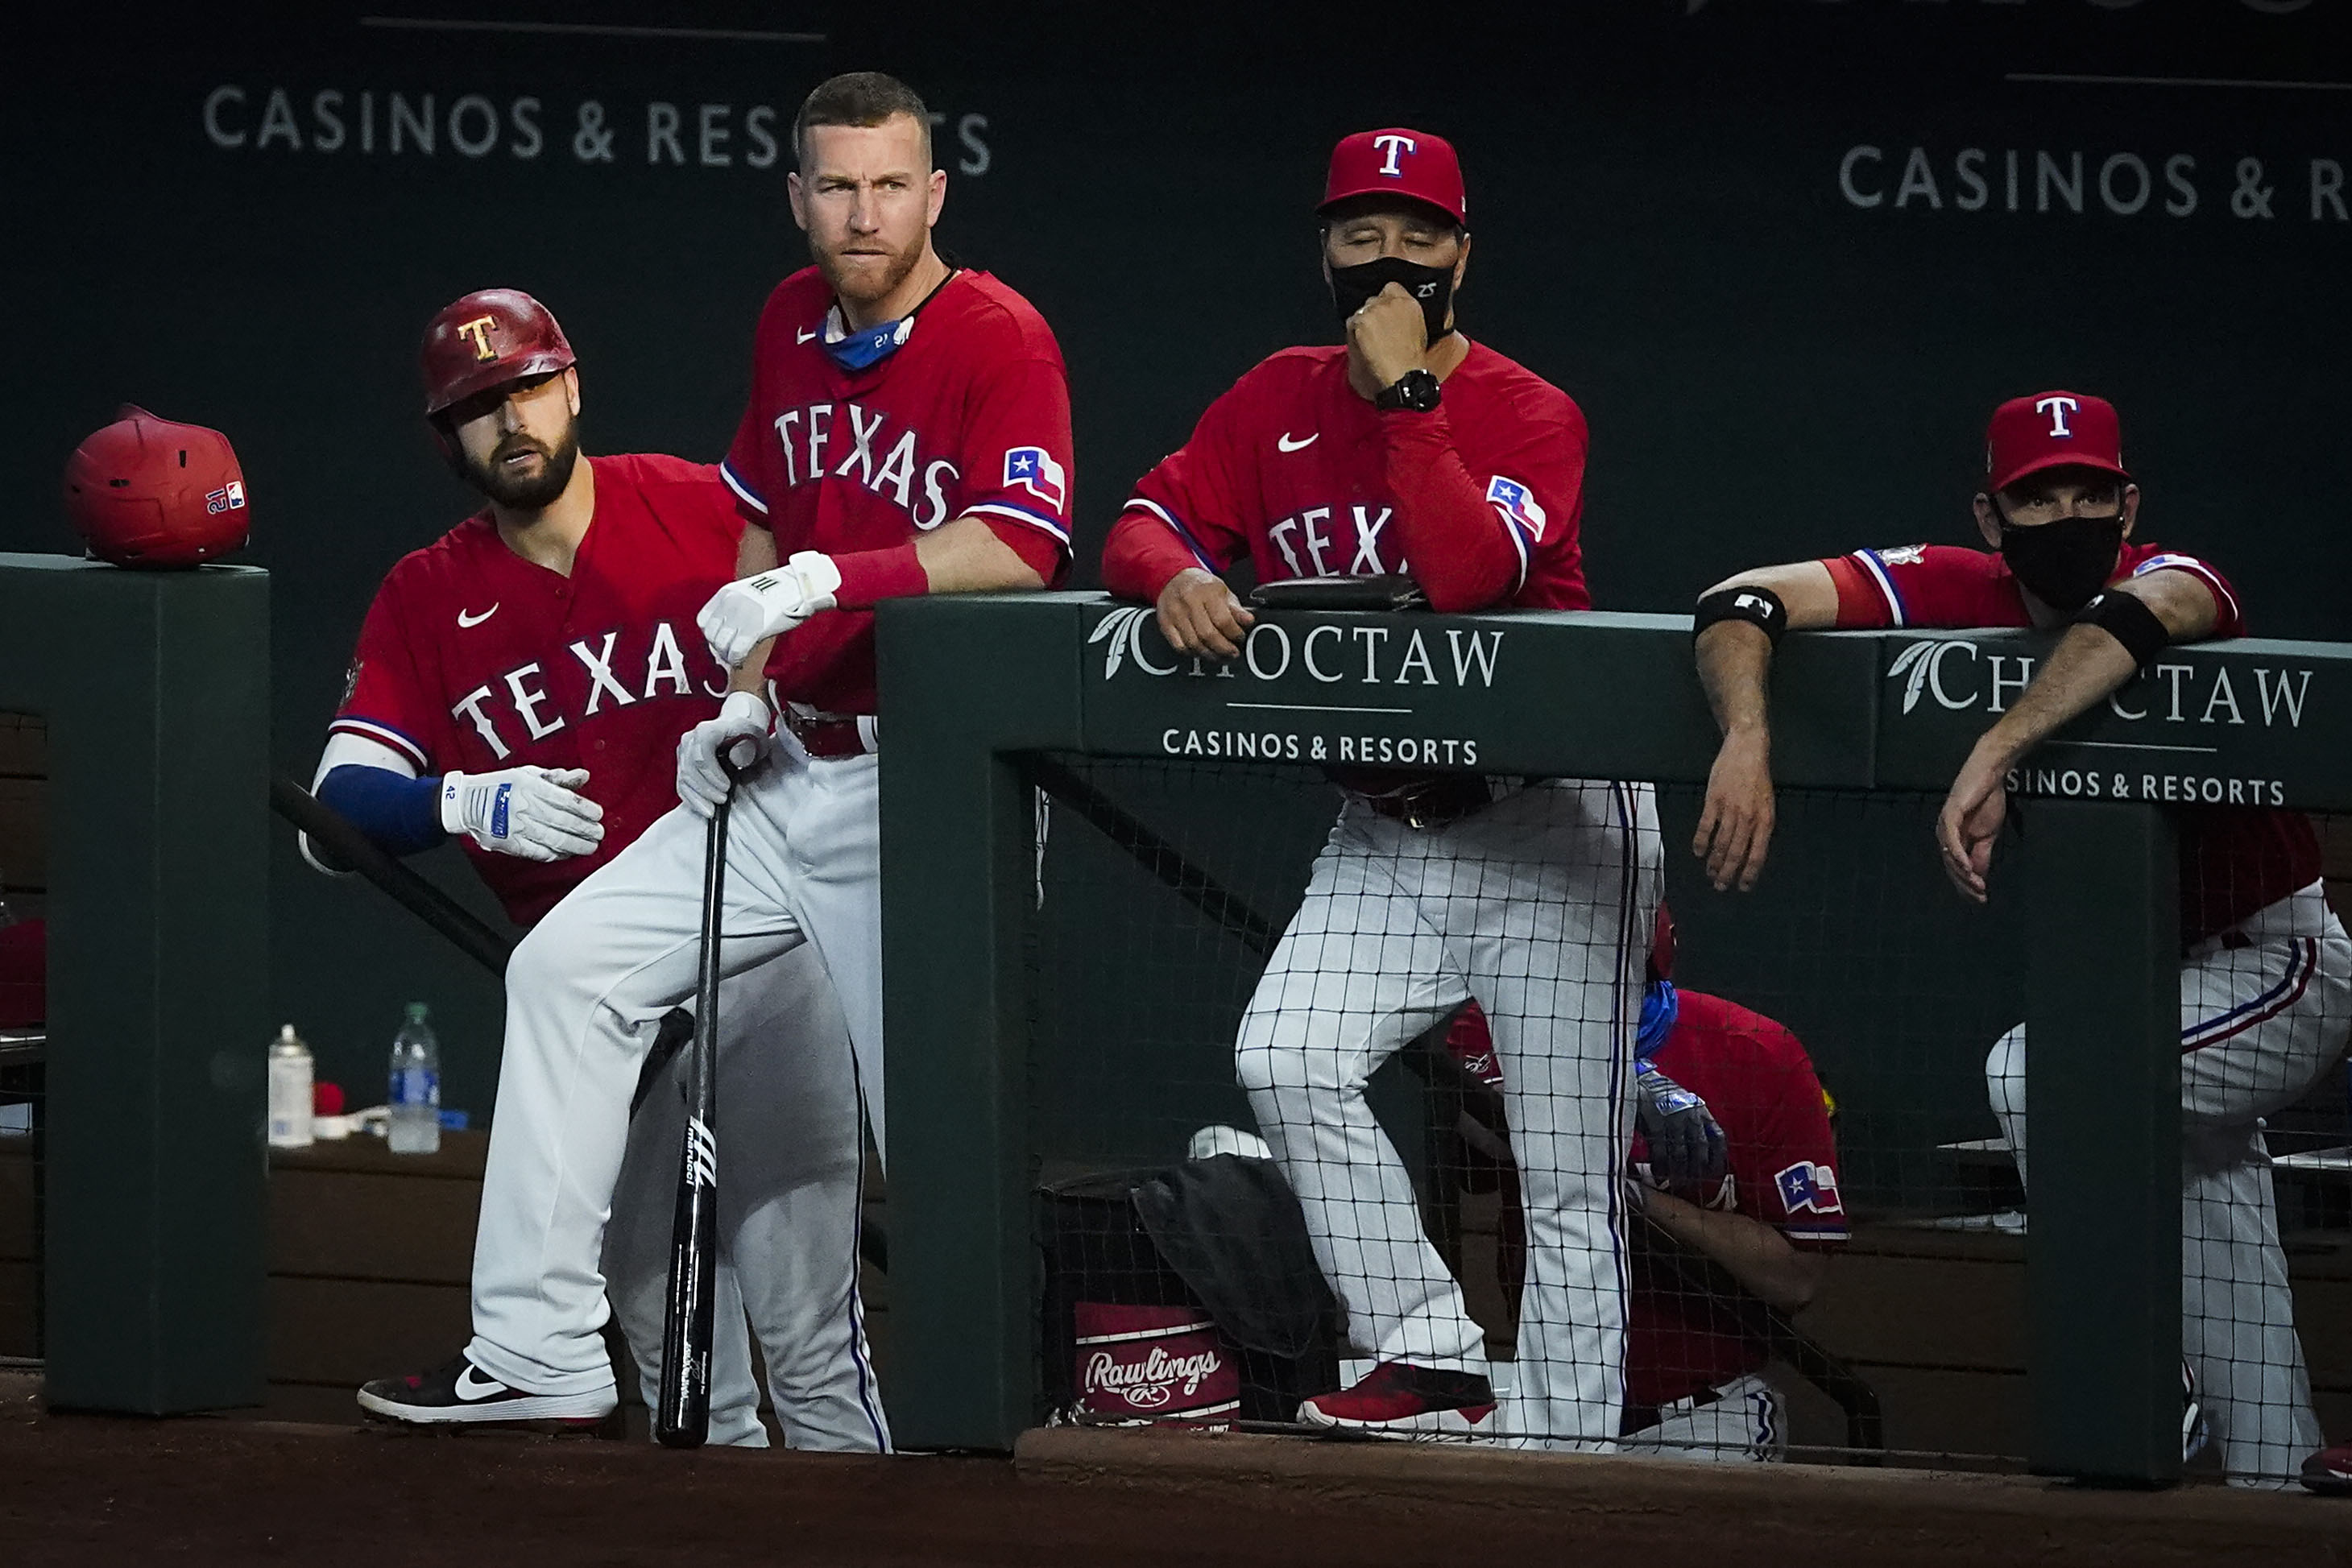
[[[2347,1030],[2352,943],[2317,882],[2180,959],[2180,1352],[2239,1486],[2291,1486],[2324,1446],[2263,1117],[2310,1093]],[[2023,1180],[2025,1025],[1985,1084]]]

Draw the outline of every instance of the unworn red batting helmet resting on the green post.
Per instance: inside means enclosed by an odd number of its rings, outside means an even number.
[[[89,552],[118,567],[198,567],[252,531],[228,437],[134,404],[66,458],[66,515]]]

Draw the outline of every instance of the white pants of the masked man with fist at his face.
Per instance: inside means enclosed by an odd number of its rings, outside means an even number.
[[[1628,1074],[1661,860],[1649,785],[1545,780],[1430,830],[1350,799],[1242,1018],[1242,1088],[1350,1342],[1486,1373],[1364,1103],[1397,1048],[1470,997],[1486,1009],[1526,1206],[1517,1373],[1496,1425],[1526,1446],[1616,1439]]]

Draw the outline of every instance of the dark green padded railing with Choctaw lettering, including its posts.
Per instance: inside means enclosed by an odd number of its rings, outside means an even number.
[[[1715,757],[1679,616],[1270,614],[1247,658],[1218,668],[1174,656],[1138,607],[1011,595],[894,602],[880,646],[891,1410],[906,1446],[1002,1450],[1044,1415],[1035,1187],[1051,1152],[1030,1058],[1042,987],[1075,980],[1068,952],[1058,973],[1037,964],[1040,785],[1051,795],[1058,773],[1077,804],[1073,762],[1157,759],[1230,766],[1237,788],[1265,764],[1369,762],[1689,790]],[[1790,637],[1773,670],[1776,780],[1790,797],[1940,797],[2044,649],[2016,632]],[[2032,1053],[2027,1091],[2025,1458],[2039,1474],[2180,1474],[2166,806],[2352,806],[2345,733],[2352,651],[2220,642],[2169,651],[2018,780],[2032,830],[2002,846],[1997,905],[2018,929],[2030,1032],[2067,1041]],[[1174,891],[1195,907],[1225,896],[1214,879]],[[1216,1048],[1188,1070],[1214,1070]]]

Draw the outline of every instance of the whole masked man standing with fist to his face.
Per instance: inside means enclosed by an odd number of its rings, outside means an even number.
[[[1218,397],[1145,475],[1103,583],[1169,644],[1232,658],[1251,616],[1218,576],[1411,574],[1442,611],[1585,609],[1585,421],[1454,329],[1468,261],[1454,148],[1338,143],[1322,247],[1345,346],[1291,348]],[[1301,1420],[1371,1434],[1616,1436],[1625,1095],[1656,903],[1644,785],[1336,776],[1350,799],[1242,1020],[1237,1070],[1315,1255],[1374,1368]],[[1477,997],[1510,1067],[1534,1229],[1519,1380],[1494,1418],[1484,1345],[1423,1234],[1364,1081]]]

